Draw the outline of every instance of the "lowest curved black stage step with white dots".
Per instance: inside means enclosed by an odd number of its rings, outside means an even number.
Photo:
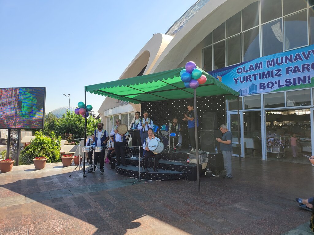
[[[119,165],[115,166],[116,173],[120,175],[126,175],[129,177],[138,178],[138,166],[128,165],[127,167]],[[180,180],[184,179],[185,173],[181,171],[162,170],[158,169],[158,172],[154,172],[153,168],[149,169],[149,172],[141,170],[141,178],[143,180]]]

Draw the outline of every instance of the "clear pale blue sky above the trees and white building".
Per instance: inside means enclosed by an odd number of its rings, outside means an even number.
[[[0,0],[0,87],[46,86],[46,112],[117,80],[196,0]],[[103,96],[87,93],[97,112]]]

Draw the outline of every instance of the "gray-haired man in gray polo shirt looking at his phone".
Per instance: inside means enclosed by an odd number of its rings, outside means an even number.
[[[220,143],[220,149],[224,156],[224,165],[227,172],[224,179],[232,179],[232,133],[227,129],[226,125],[220,125],[219,129],[222,132],[222,137],[216,138],[216,140]]]

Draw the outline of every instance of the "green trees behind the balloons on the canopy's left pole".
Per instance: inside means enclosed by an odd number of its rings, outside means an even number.
[[[100,119],[95,120],[91,116],[87,118],[86,134],[91,135]],[[54,120],[54,131],[56,135],[60,135],[63,139],[72,142],[75,138],[84,138],[85,136],[85,118],[74,112],[67,111],[67,115],[63,114],[62,118]]]

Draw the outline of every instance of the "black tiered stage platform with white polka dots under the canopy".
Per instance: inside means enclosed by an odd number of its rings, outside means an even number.
[[[180,152],[176,152],[176,154],[180,154]],[[182,153],[182,155],[186,155],[186,153]],[[116,172],[120,175],[126,175],[129,177],[138,178],[138,157],[137,158],[126,158],[127,167],[121,165],[115,166],[116,157],[111,159],[111,169],[115,169]],[[145,172],[142,170],[143,159],[140,159],[140,170],[142,179],[147,180],[178,180],[178,179],[186,179],[190,181],[197,180],[197,165],[190,164],[187,165],[186,160],[164,160],[159,159],[158,172],[154,172],[154,161],[148,161],[148,170],[149,172]],[[199,166],[200,174],[206,169],[202,170],[202,165]]]

